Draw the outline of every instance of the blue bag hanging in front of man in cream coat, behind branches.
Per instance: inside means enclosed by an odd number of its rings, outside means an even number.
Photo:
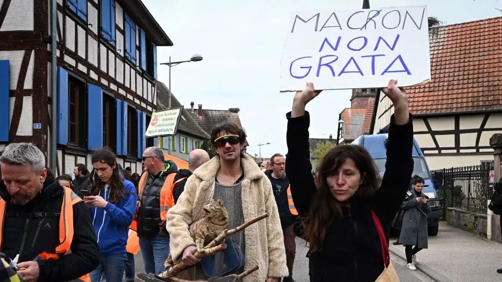
[[[225,243],[227,245],[227,248],[222,251],[224,255],[221,276],[234,274],[234,271],[244,267],[244,256],[242,254],[241,248],[237,246],[237,244],[234,243],[231,238],[226,238]],[[214,277],[218,275],[214,271],[215,261],[216,255],[206,256],[202,258],[202,270],[207,277]]]

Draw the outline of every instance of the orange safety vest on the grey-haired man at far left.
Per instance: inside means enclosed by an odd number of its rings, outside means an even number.
[[[71,189],[64,187],[63,203],[61,204],[61,215],[59,217],[59,242],[54,253],[42,252],[36,260],[60,259],[67,254],[71,253],[70,247],[73,241],[74,222],[73,222],[73,205],[81,202],[82,199],[77,196]],[[4,218],[5,218],[6,202],[0,198],[0,246],[2,246],[3,232],[4,232]],[[89,274],[85,274],[79,278],[69,280],[67,282],[91,282]]]

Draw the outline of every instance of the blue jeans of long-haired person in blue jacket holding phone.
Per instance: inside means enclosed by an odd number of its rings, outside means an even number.
[[[106,277],[106,282],[122,282],[126,254],[100,256],[99,266],[91,272],[91,282],[99,282],[101,276]]]

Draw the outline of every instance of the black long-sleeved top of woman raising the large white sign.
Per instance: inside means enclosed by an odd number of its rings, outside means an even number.
[[[307,216],[316,186],[309,161],[310,116],[288,118],[286,174],[299,216]],[[310,254],[310,276],[318,281],[373,282],[384,269],[382,249],[371,210],[378,215],[388,242],[388,229],[409,189],[413,171],[411,148],[413,121],[396,125],[391,117],[386,171],[379,191],[371,198],[353,196],[343,208],[344,216],[328,228],[324,247]]]

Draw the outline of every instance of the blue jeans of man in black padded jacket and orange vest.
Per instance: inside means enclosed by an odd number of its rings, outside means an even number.
[[[139,237],[139,248],[146,273],[158,275],[166,270],[164,262],[169,256],[169,235]]]

